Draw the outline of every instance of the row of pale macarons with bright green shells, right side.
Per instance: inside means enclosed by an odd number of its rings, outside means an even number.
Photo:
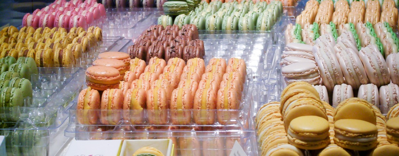
[[[384,58],[399,50],[399,39],[387,22],[378,22],[374,25],[370,22],[358,22],[356,25],[353,23],[341,24],[338,26],[338,31],[332,22],[322,24],[320,29],[317,23],[306,24],[303,30],[298,24],[295,26],[288,24],[286,31],[284,34],[286,43],[314,45],[317,38],[324,34],[330,34],[336,43],[339,43],[342,38],[348,39],[350,43],[345,43],[345,46],[355,47],[354,49],[357,50],[369,44],[375,44]],[[341,39],[338,39],[339,36],[342,36]]]

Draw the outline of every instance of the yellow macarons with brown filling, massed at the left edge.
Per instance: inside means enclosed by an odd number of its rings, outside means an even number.
[[[38,67],[65,67],[74,65],[92,47],[101,43],[103,35],[99,27],[38,28],[13,26],[1,30],[0,58],[12,56],[32,57]]]

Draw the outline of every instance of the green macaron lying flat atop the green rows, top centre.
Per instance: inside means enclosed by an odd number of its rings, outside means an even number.
[[[168,1],[164,3],[163,7],[165,15],[177,16],[180,14],[188,14],[187,2]]]

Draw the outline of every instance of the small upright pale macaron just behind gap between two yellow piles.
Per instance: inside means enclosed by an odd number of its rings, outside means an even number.
[[[345,83],[335,85],[332,93],[332,106],[337,107],[342,101],[351,97],[354,97],[351,85],[346,85]]]

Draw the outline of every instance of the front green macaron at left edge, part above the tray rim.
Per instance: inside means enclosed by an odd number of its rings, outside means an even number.
[[[5,87],[0,92],[0,103],[4,107],[22,107],[24,98],[19,88]]]

